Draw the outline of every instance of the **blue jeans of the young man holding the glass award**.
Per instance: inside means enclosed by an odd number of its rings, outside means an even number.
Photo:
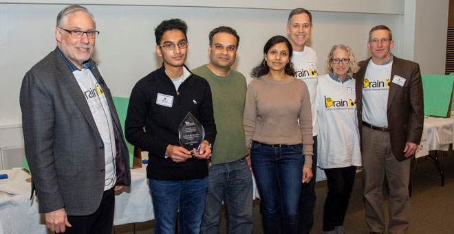
[[[149,179],[155,211],[155,233],[175,233],[180,205],[180,233],[199,233],[208,178],[160,181]]]

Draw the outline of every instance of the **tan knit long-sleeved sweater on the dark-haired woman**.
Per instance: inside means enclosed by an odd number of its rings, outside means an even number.
[[[270,145],[303,143],[305,167],[312,165],[312,113],[309,91],[302,80],[269,80],[265,76],[252,80],[243,125],[248,148],[252,140]]]

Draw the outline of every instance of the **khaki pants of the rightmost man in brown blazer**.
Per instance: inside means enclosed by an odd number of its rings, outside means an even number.
[[[383,180],[389,186],[389,233],[407,233],[409,229],[410,160],[397,161],[391,151],[389,132],[363,126],[363,174],[366,222],[371,231],[384,233]]]

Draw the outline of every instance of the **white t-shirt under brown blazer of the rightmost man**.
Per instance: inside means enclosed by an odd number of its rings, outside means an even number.
[[[376,65],[369,60],[363,82],[363,121],[387,127],[387,105],[393,63]]]

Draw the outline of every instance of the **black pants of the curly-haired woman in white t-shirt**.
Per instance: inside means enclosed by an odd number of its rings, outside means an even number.
[[[323,231],[343,226],[350,192],[355,180],[356,166],[325,169],[328,194],[323,207]]]

